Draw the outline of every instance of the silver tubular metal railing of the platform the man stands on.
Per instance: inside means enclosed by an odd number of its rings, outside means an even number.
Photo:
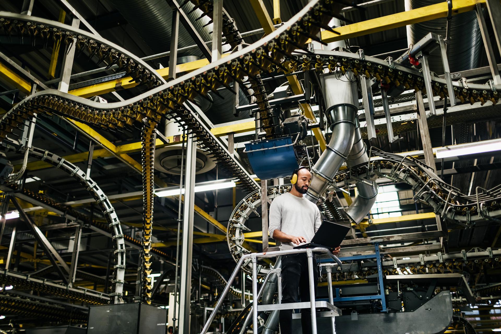
[[[253,318],[253,331],[254,334],[258,334],[258,301],[261,295],[263,294],[264,288],[266,286],[266,283],[272,273],[277,273],[276,269],[271,270],[268,272],[267,276],[265,277],[265,280],[263,282],[263,285],[261,286],[260,290],[258,291],[258,259],[260,258],[268,258],[268,257],[275,257],[279,255],[290,255],[290,254],[300,254],[300,253],[306,253],[308,256],[308,274],[310,278],[310,301],[307,302],[310,304],[310,309],[311,309],[311,316],[312,316],[312,334],[317,334],[317,314],[315,310],[316,302],[315,302],[315,285],[314,285],[314,275],[313,275],[313,253],[323,253],[329,255],[339,266],[341,266],[341,261],[332,254],[332,251],[329,248],[326,247],[314,247],[314,248],[302,248],[302,249],[290,249],[290,250],[278,250],[278,251],[272,251],[272,252],[264,252],[264,253],[250,253],[243,255],[240,257],[240,260],[238,260],[238,263],[236,264],[235,269],[231,273],[231,276],[228,279],[228,283],[224,287],[223,291],[221,292],[219,299],[217,300],[216,305],[214,306],[214,309],[210,313],[210,316],[203,326],[203,329],[200,334],[206,334],[210,324],[214,320],[214,317],[216,316],[217,310],[221,307],[224,297],[226,297],[226,294],[228,293],[229,289],[231,288],[231,284],[233,283],[233,280],[235,279],[238,270],[242,266],[243,262],[247,259],[252,260],[253,264],[253,282],[252,282],[252,291],[253,291],[253,307],[252,307],[252,318]],[[280,279],[279,277],[279,289],[281,287]],[[330,300],[332,300],[332,286],[329,289],[329,295],[330,295]],[[279,292],[279,299],[282,299],[282,293],[281,291]],[[324,302],[325,303],[325,302]],[[298,308],[297,306],[298,303],[291,303],[290,306],[288,306],[289,309],[292,308]],[[305,304],[305,303],[301,303]],[[262,305],[263,306],[263,305]],[[276,306],[276,305],[275,305]],[[301,305],[305,306],[305,305]],[[281,307],[281,309],[286,309],[287,307]],[[304,307],[300,307],[304,308]],[[249,313],[250,314],[250,313]]]

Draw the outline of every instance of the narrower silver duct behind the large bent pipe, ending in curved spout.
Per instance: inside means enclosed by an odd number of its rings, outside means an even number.
[[[355,120],[355,139],[351,149],[348,159],[346,160],[346,167],[352,168],[360,164],[366,164],[369,162],[369,156],[367,155],[367,146],[362,139],[362,133],[360,132],[360,123],[358,118]],[[377,184],[375,181],[365,180],[371,184],[365,182],[357,182],[356,187],[358,190],[357,197],[353,200],[353,203],[345,211],[348,217],[355,223],[359,223],[364,219],[364,217],[369,213],[374,202],[376,201],[377,195]]]

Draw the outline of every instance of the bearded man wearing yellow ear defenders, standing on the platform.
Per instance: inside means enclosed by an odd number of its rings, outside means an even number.
[[[303,197],[308,191],[312,175],[306,167],[300,167],[293,172],[290,192],[275,198],[270,206],[270,236],[281,242],[280,249],[293,249],[303,242],[311,242],[319,229],[322,220],[317,205]],[[337,255],[340,247],[333,253]],[[313,258],[315,279],[315,295],[319,270],[317,261]],[[296,302],[298,289],[301,301],[310,301],[310,283],[308,276],[308,257],[306,253],[282,256],[282,303]],[[292,334],[292,309],[280,311],[280,333]],[[303,334],[311,334],[311,310],[301,309],[301,325]]]

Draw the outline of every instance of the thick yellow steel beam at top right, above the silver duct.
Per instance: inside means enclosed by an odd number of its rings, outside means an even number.
[[[472,11],[476,4],[484,3],[485,0],[454,0],[452,2],[452,15]],[[321,37],[322,41],[325,43],[331,43],[394,28],[405,27],[419,22],[445,18],[446,16],[447,2],[444,1],[439,4],[425,6],[415,10],[387,15],[336,28],[335,30],[341,35],[325,30],[321,33]]]

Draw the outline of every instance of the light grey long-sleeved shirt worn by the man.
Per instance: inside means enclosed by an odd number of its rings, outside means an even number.
[[[306,242],[311,242],[321,224],[317,205],[304,197],[285,193],[275,198],[270,205],[268,232],[272,238],[273,232],[280,230],[286,234],[303,236]],[[292,242],[282,242],[280,249],[293,249],[295,246]]]

